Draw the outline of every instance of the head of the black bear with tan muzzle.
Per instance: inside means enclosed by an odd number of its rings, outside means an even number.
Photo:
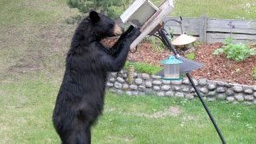
[[[96,11],[91,11],[88,17],[89,21],[93,24],[93,32],[97,34],[100,39],[118,36],[124,32],[124,28],[120,28],[118,24],[108,16],[99,14]]]

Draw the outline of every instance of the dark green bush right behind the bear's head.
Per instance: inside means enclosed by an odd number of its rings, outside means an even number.
[[[106,15],[115,17],[119,14],[117,9],[125,6],[125,0],[67,0],[70,8],[77,8],[81,13],[87,13],[91,9],[104,11]],[[120,10],[119,10],[120,12]]]

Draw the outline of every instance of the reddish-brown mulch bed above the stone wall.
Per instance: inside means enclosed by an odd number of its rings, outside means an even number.
[[[112,46],[116,40],[105,40],[107,46]],[[195,61],[202,62],[204,67],[192,72],[194,78],[208,78],[210,80],[221,80],[242,85],[256,85],[253,79],[253,67],[256,66],[256,56],[236,62],[229,60],[224,54],[213,55],[216,48],[221,47],[221,43],[195,46]],[[170,55],[169,50],[154,51],[150,42],[144,41],[139,45],[136,53],[130,53],[129,60],[145,62],[151,65],[160,65],[162,59]]]

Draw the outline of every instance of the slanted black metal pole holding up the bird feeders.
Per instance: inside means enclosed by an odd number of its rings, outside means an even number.
[[[166,30],[164,28],[161,28],[159,31],[158,31],[158,34],[160,34],[160,36],[162,37],[162,41],[163,41],[163,44],[165,46],[167,46],[171,52],[173,52],[176,56],[176,58],[180,57],[179,54],[176,52],[176,48],[170,43],[170,39],[168,38],[169,34],[166,33]],[[200,94],[200,92],[197,90],[197,88],[195,87],[195,83],[194,81],[192,80],[191,76],[189,73],[186,73],[187,77],[189,78],[189,82],[190,84],[193,86],[193,88],[195,89],[195,92],[197,94],[197,96],[199,97],[200,101],[202,102],[202,105],[204,107],[204,109],[206,110],[206,112],[208,113],[208,116],[210,118],[210,120],[213,122],[214,124],[214,128],[216,129],[218,135],[220,136],[221,138],[221,141],[223,144],[226,144],[226,141],[224,140],[224,137],[222,136],[221,134],[221,130],[220,128],[218,128],[218,125],[216,124],[216,122],[214,121],[214,116],[212,116],[212,114],[210,113],[210,111],[208,110],[208,106],[206,105],[206,103],[204,102],[204,100],[202,99],[202,96]]]

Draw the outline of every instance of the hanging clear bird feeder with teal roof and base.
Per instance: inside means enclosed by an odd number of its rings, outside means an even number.
[[[180,77],[180,66],[183,63],[181,60],[176,59],[175,56],[171,55],[168,59],[164,59],[161,62],[164,65],[164,77],[167,80],[179,80]]]

